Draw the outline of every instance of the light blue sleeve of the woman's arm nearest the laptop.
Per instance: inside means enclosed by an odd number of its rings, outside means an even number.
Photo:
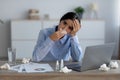
[[[81,61],[83,53],[77,36],[71,37],[71,57],[73,61]]]

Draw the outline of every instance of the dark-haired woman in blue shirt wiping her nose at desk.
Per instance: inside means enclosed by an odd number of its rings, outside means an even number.
[[[68,61],[70,58],[81,61],[83,53],[76,35],[80,28],[76,13],[68,12],[57,26],[41,30],[33,51],[33,61]]]

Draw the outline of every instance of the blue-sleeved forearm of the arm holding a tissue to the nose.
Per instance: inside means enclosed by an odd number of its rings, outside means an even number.
[[[33,61],[41,61],[51,50],[54,42],[48,37],[42,44],[36,45],[33,52]]]

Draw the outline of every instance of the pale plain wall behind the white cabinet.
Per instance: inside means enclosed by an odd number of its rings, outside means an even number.
[[[73,11],[77,6],[86,10],[83,19],[90,18],[89,5],[98,4],[98,17],[106,22],[105,42],[117,43],[118,25],[116,15],[119,0],[0,0],[0,57],[7,57],[7,48],[10,47],[10,20],[27,19],[29,9],[38,9],[40,17],[49,14],[50,19],[59,19],[64,13]],[[117,46],[113,55],[117,58]]]

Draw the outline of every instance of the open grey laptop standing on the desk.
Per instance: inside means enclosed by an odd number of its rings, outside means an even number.
[[[86,71],[98,69],[102,64],[109,64],[112,54],[115,49],[115,43],[107,43],[103,45],[88,46],[85,49],[85,54],[82,63],[66,65],[69,69],[75,71]]]

